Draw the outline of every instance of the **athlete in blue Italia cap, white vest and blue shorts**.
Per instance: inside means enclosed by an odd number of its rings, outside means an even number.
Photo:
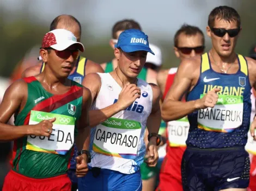
[[[88,74],[83,80],[94,100],[90,111],[90,126],[94,128],[90,133],[91,170],[78,179],[80,191],[142,190],[139,167],[145,152],[150,167],[157,163],[160,90],[137,78],[148,52],[154,54],[147,35],[138,29],[125,30],[115,45],[118,65],[114,71]],[[146,126],[147,149],[143,141]]]

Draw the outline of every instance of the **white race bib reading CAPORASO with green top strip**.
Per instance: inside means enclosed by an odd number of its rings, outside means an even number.
[[[104,155],[134,159],[140,136],[141,123],[111,117],[97,125],[93,150]]]

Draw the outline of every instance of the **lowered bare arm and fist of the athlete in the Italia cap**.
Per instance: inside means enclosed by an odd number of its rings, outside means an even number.
[[[161,110],[160,110],[160,88],[155,84],[150,84],[153,90],[153,103],[152,110],[147,120],[147,128],[149,133],[158,133],[161,124]],[[145,162],[148,163],[149,167],[155,167],[157,160],[159,158],[157,147],[156,147],[156,137],[151,137],[147,150],[146,150]]]

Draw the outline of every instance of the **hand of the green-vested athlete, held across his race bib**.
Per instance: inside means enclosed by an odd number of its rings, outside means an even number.
[[[52,123],[55,122],[55,120],[56,118],[54,117],[49,120],[42,120],[36,125],[29,125],[29,135],[50,137],[53,126]]]

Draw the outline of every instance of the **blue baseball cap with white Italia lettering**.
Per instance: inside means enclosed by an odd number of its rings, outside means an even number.
[[[155,55],[149,48],[148,35],[138,29],[128,29],[123,31],[118,37],[115,48],[121,48],[126,53],[142,50]]]

